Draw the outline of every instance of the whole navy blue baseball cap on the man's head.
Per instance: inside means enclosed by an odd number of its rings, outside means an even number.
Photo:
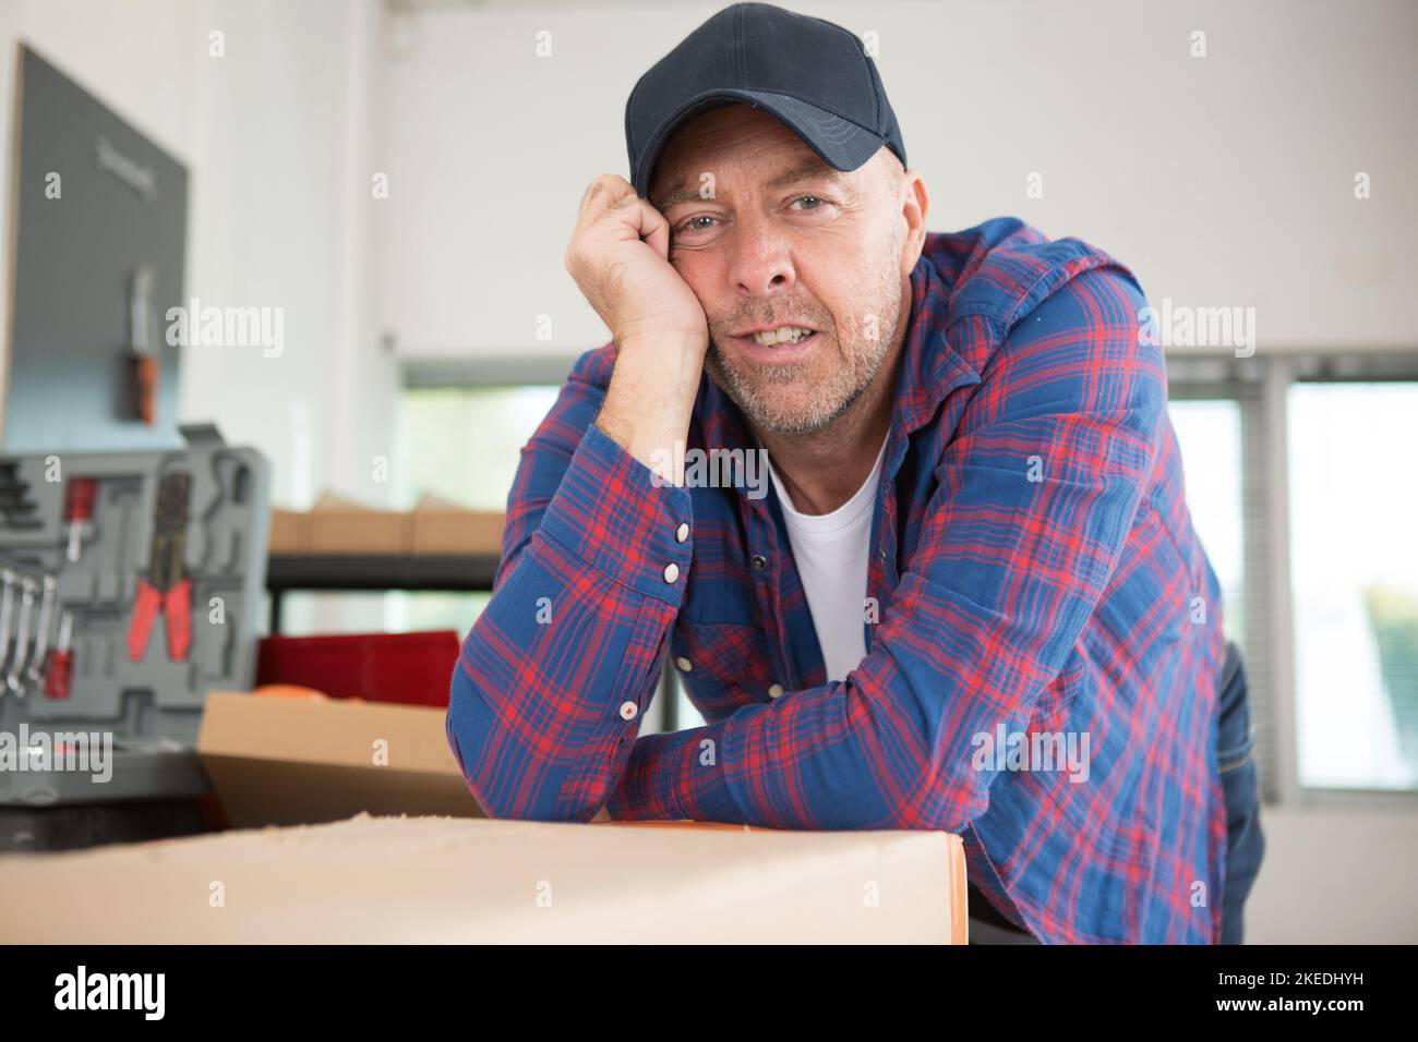
[[[855,170],[883,145],[906,166],[896,113],[856,35],[773,4],[735,4],[685,37],[630,92],[625,146],[635,194],[649,190],[655,160],[681,123],[735,103],[777,116],[838,170]]]

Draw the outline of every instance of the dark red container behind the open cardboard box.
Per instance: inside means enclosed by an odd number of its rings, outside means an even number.
[[[257,685],[294,683],[336,699],[447,706],[458,631],[265,637]]]

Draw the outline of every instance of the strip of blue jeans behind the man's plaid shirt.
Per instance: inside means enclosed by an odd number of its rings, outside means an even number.
[[[1227,644],[1221,668],[1221,720],[1217,727],[1217,760],[1227,805],[1227,866],[1221,886],[1221,943],[1241,944],[1242,906],[1251,893],[1265,835],[1261,832],[1261,798],[1255,763],[1255,727],[1241,649]]]

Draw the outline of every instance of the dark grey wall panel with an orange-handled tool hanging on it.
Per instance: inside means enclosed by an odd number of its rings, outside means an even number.
[[[180,347],[166,342],[166,313],[186,305],[187,170],[30,48],[18,65],[4,451],[179,445]],[[138,417],[130,352],[142,267],[159,370],[152,425]]]

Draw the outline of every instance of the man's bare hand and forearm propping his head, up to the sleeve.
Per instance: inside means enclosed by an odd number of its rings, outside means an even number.
[[[669,262],[669,223],[624,177],[601,174],[581,200],[564,259],[615,337],[615,371],[596,425],[678,483],[683,458],[674,449],[689,431],[709,323]]]

